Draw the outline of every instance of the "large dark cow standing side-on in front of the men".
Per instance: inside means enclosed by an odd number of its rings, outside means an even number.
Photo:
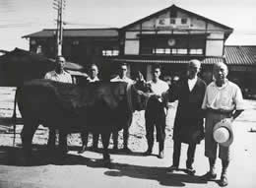
[[[101,134],[103,158],[110,133],[126,126],[133,110],[145,107],[145,95],[138,90],[141,84],[95,83],[85,86],[33,80],[17,91],[18,106],[24,128],[22,142],[25,154],[32,154],[32,137],[39,123],[58,129],[60,149],[67,150],[67,134],[97,132]]]

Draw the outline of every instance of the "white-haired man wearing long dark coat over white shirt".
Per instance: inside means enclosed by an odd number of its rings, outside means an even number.
[[[206,84],[197,77],[201,62],[193,59],[188,63],[187,77],[181,79],[168,91],[169,102],[178,100],[178,106],[173,128],[172,165],[168,171],[178,169],[181,143],[188,144],[186,168],[195,173],[192,166],[196,145],[204,138],[203,110],[201,108]]]

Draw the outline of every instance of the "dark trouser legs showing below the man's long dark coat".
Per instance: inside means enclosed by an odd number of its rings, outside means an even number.
[[[174,148],[173,156],[172,156],[173,165],[178,166],[179,158],[180,158],[181,142],[173,141],[173,148]],[[195,152],[196,152],[196,144],[189,144],[188,150],[187,150],[187,161],[186,161],[187,167],[189,167],[193,164]]]

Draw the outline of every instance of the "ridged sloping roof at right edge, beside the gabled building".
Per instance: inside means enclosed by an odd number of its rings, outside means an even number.
[[[230,65],[256,65],[256,46],[225,46],[224,55]]]

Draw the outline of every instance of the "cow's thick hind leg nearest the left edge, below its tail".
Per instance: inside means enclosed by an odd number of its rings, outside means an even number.
[[[38,123],[36,122],[26,121],[26,120],[24,122],[21,138],[22,138],[24,154],[25,154],[25,157],[27,158],[32,157],[32,137],[37,127],[38,127]]]

